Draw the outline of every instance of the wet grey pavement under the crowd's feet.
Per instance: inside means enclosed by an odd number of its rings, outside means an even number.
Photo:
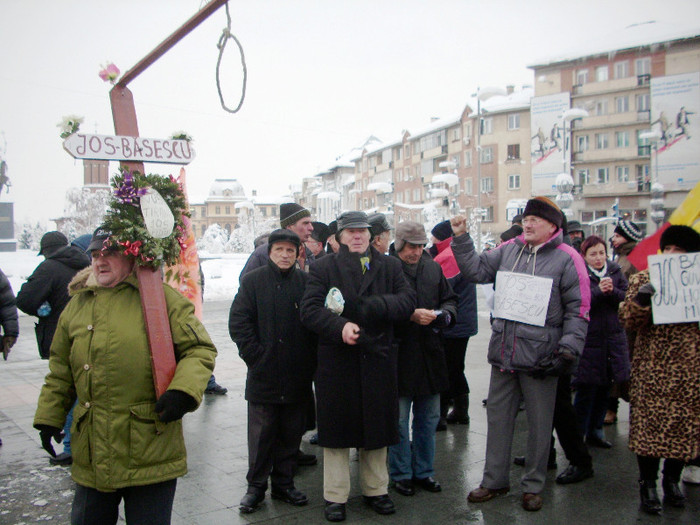
[[[323,517],[322,450],[308,443],[302,449],[315,453],[319,464],[301,467],[296,486],[309,497],[305,507],[271,500],[269,493],[260,510],[241,515],[238,503],[245,493],[247,470],[246,404],[243,399],[245,365],[228,336],[230,302],[206,303],[204,324],[219,350],[217,381],[225,396],[206,396],[202,406],[184,418],[189,473],[180,478],[175,496],[173,524],[214,525],[238,523],[327,523]],[[32,428],[39,390],[47,362],[38,358],[33,318],[20,318],[20,339],[7,362],[0,362],[0,524],[36,522],[69,523],[73,482],[69,469],[49,465],[39,434]],[[549,471],[539,512],[520,506],[520,468],[511,470],[511,492],[490,502],[467,502],[467,494],[481,480],[486,446],[486,410],[481,400],[488,390],[489,365],[486,344],[488,317],[480,313],[480,333],[467,351],[467,378],[471,393],[471,424],[450,425],[437,434],[436,478],[443,486],[437,494],[417,491],[405,497],[390,490],[397,512],[379,516],[364,506],[357,486],[357,462],[351,463],[353,490],[347,508],[348,523],[365,524],[646,524],[700,523],[700,486],[682,484],[688,496],[685,509],[666,508],[661,516],[639,511],[637,468],[627,449],[628,409],[622,403],[619,421],[606,427],[610,450],[592,449],[595,476],[582,483],[560,486]],[[518,418],[513,454],[524,454],[524,414]],[[57,447],[60,451],[60,446]],[[561,472],[568,465],[557,445]],[[659,492],[661,487],[659,482]],[[123,516],[123,513],[122,513]],[[120,518],[120,523],[123,518]]]

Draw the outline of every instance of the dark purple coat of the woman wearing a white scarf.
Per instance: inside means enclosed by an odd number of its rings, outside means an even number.
[[[627,337],[618,318],[618,307],[625,300],[627,279],[620,266],[608,261],[608,276],[613,292],[600,291],[600,278],[589,270],[591,280],[591,321],[578,369],[572,384],[606,385],[621,383],[630,377]]]

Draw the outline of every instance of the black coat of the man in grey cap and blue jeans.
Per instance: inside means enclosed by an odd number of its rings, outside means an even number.
[[[403,264],[404,276],[416,291],[416,308],[442,310],[450,315],[450,326],[457,316],[457,294],[442,274],[440,265],[423,252],[416,274],[411,275]],[[436,320],[437,321],[437,320]],[[423,326],[413,321],[397,323],[399,339],[399,396],[428,396],[449,387],[442,327]]]

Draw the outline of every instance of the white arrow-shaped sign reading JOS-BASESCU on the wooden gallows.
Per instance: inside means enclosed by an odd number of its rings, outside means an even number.
[[[124,135],[73,133],[63,141],[63,149],[76,159],[126,160],[189,164],[194,149],[186,140],[147,139]]]

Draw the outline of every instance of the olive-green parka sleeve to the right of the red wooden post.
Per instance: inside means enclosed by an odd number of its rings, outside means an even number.
[[[194,314],[194,305],[170,286],[164,285],[164,290],[177,361],[168,390],[180,390],[199,405],[214,371],[216,347]]]

